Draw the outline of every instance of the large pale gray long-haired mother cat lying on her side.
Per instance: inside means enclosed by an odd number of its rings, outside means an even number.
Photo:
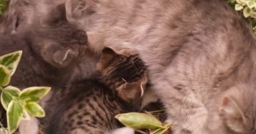
[[[141,54],[174,134],[256,132],[256,40],[225,0],[67,0],[66,11],[95,52]]]

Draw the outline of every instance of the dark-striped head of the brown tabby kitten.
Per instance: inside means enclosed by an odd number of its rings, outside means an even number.
[[[97,63],[103,82],[115,90],[120,98],[130,102],[141,99],[147,84],[147,70],[139,54],[123,49],[115,52],[106,47]]]

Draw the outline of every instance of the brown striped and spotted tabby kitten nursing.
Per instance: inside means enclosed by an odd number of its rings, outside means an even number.
[[[97,71],[52,95],[42,120],[46,134],[110,134],[123,126],[115,115],[140,111],[148,71],[137,53],[106,47]]]

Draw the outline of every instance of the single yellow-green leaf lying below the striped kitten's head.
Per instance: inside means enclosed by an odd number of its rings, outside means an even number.
[[[133,129],[165,129],[158,119],[145,113],[123,113],[116,115],[115,118]]]

